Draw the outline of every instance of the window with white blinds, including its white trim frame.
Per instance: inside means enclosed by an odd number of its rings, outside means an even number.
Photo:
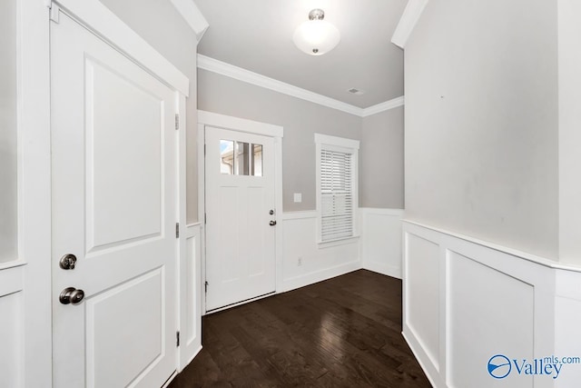
[[[315,134],[315,143],[319,241],[326,243],[354,237],[359,142]]]

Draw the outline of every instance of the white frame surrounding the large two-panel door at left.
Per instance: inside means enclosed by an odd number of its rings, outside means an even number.
[[[105,41],[115,42],[116,48],[124,55],[144,65],[148,72],[179,92],[182,134],[178,136],[179,160],[176,161],[179,164],[180,201],[176,217],[183,226],[186,220],[184,140],[189,79],[98,0],[17,1],[17,265],[24,268],[23,380],[24,386],[31,388],[46,386],[53,380],[49,15],[58,17],[59,9],[65,10]],[[182,261],[182,235],[179,244]],[[177,287],[178,284],[176,292]],[[176,368],[179,369],[179,357]]]

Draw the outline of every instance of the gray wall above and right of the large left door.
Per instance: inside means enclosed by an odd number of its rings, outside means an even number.
[[[198,219],[196,35],[168,0],[101,0],[190,78],[187,115],[187,221]]]

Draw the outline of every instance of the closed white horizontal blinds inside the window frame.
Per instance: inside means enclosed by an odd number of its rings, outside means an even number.
[[[352,237],[353,155],[320,150],[321,242]]]

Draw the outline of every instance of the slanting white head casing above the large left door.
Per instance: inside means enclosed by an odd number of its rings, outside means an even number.
[[[60,5],[62,12],[74,17],[109,45],[114,42],[114,47],[136,63],[147,64],[146,70],[166,85],[186,97],[189,95],[190,80],[99,0],[58,0],[54,4]]]

